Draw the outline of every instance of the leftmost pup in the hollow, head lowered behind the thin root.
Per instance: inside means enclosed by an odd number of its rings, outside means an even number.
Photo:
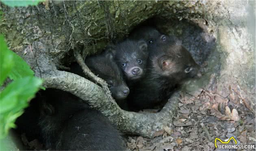
[[[130,90],[123,79],[122,72],[113,61],[113,55],[111,53],[89,56],[86,58],[85,64],[95,75],[106,81],[115,100],[123,100],[128,96]],[[70,69],[70,72],[85,77],[78,64],[72,64]]]

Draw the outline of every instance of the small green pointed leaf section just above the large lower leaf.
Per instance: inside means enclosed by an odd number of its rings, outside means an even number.
[[[34,71],[30,69],[30,66],[16,53],[11,51],[13,55],[14,67],[9,73],[9,78],[16,80],[27,76],[33,76]]]

